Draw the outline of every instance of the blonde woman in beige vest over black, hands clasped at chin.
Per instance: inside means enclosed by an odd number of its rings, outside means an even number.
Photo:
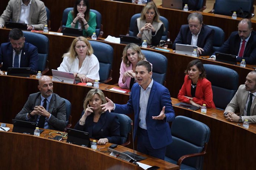
[[[137,18],[133,28],[133,36],[146,40],[147,44],[158,45],[164,32],[164,24],[154,2],[147,3]]]

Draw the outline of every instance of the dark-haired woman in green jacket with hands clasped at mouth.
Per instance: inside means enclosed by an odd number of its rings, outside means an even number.
[[[82,29],[85,37],[95,33],[96,14],[90,12],[89,0],[76,0],[73,10],[68,14],[66,27]]]

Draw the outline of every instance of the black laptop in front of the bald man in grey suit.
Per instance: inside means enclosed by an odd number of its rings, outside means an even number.
[[[27,122],[23,120],[13,119],[13,132],[34,135],[34,131],[36,127],[37,127],[36,122]],[[40,130],[40,133],[44,131],[42,129],[39,129],[39,130]]]

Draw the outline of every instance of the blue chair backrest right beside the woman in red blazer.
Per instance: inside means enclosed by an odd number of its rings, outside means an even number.
[[[206,78],[211,82],[213,102],[216,108],[225,109],[238,87],[238,74],[230,68],[204,64]]]

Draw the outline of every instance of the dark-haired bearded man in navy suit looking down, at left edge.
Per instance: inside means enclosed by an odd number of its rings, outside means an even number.
[[[2,43],[0,47],[0,68],[7,71],[9,67],[30,67],[30,74],[36,74],[38,67],[37,48],[25,41],[22,30],[13,28],[9,33],[9,43]],[[0,74],[4,73],[0,71]]]

